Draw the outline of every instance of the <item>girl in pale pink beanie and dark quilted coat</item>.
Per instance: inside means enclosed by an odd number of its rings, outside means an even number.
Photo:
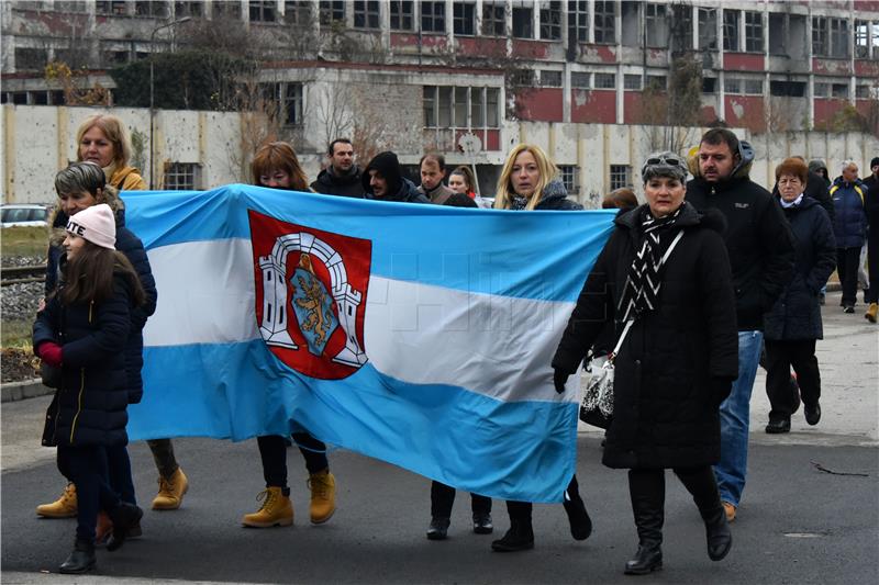
[[[58,569],[85,573],[96,565],[99,509],[113,521],[110,551],[122,545],[143,516],[108,483],[105,449],[127,442],[129,379],[119,348],[129,339],[130,312],[145,294],[134,267],[114,249],[115,217],[109,205],[82,210],[66,229],[62,281],[37,312],[33,347],[45,364],[60,371],[42,442],[57,447],[58,471],[77,491],[74,550]]]

